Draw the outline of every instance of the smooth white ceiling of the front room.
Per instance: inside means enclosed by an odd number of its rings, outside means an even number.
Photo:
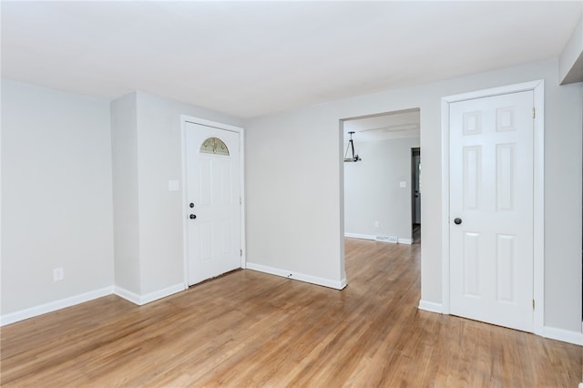
[[[581,2],[6,2],[2,76],[256,117],[556,58]]]

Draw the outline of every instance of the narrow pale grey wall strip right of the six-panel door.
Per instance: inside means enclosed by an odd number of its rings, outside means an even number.
[[[581,332],[583,83],[545,89],[545,325]]]

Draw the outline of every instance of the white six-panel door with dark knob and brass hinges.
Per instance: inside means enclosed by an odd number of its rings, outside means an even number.
[[[533,331],[533,91],[450,105],[450,311]]]

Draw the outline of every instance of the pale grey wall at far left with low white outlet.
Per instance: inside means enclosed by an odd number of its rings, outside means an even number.
[[[111,190],[108,101],[3,80],[2,315],[111,286]]]

